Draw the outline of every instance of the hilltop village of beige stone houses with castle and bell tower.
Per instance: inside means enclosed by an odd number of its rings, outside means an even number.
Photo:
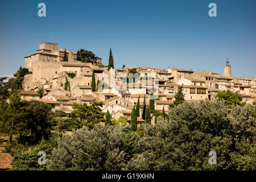
[[[150,94],[154,95],[155,110],[168,111],[178,86],[182,86],[187,102],[212,100],[219,90],[228,89],[240,93],[242,101],[248,104],[256,100],[256,78],[232,77],[228,59],[223,75],[193,69],[125,65],[121,69],[109,69],[101,64],[100,57],[84,61],[80,52],[58,49],[56,43],[43,42],[36,53],[25,57],[24,65],[30,74],[24,77],[21,98],[46,102],[53,110],[65,113],[72,112],[74,103],[90,105],[96,100],[103,102],[102,112],[109,110],[112,118],[125,117],[129,121],[138,98],[139,105],[143,106],[144,98],[148,105]],[[95,90],[93,82],[97,83]],[[41,98],[39,89],[43,89]],[[144,121],[141,117],[137,120]]]

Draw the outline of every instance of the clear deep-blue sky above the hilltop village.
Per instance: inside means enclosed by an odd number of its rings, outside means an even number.
[[[38,4],[46,3],[46,17]],[[208,5],[217,5],[209,17]],[[255,0],[0,0],[0,76],[13,76],[40,42],[80,48],[115,68],[147,66],[256,77]]]

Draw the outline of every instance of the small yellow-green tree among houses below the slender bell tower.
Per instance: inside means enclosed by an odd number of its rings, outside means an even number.
[[[232,105],[242,104],[242,96],[238,92],[233,93],[230,90],[218,91],[216,97],[220,100],[224,100],[226,106],[228,106],[229,108],[231,108]]]

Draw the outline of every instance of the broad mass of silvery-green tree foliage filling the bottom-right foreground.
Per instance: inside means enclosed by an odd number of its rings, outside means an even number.
[[[185,102],[155,126],[144,124],[141,137],[122,125],[84,126],[58,141],[47,168],[255,170],[255,111],[255,105],[237,105],[228,113],[219,100]],[[208,163],[209,151],[216,151],[217,164]]]

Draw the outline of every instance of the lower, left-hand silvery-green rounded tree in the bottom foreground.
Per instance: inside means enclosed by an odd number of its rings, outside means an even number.
[[[137,156],[140,138],[123,125],[84,126],[64,135],[47,161],[48,170],[117,171]],[[76,148],[76,150],[74,150]],[[86,157],[85,157],[86,156]]]

